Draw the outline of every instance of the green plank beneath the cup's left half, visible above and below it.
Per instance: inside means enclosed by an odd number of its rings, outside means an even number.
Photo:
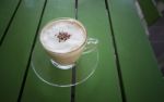
[[[73,0],[48,0],[42,21],[42,27],[47,22],[58,17],[74,17]],[[42,28],[40,27],[40,28]],[[39,44],[37,39],[36,46]],[[61,77],[59,77],[62,80]],[[70,102],[70,87],[52,87],[42,81],[33,72],[27,75],[22,102]]]

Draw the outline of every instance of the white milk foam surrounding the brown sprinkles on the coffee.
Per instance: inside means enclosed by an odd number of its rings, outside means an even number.
[[[65,31],[70,36],[66,41],[59,42],[57,35]],[[74,21],[58,21],[46,26],[40,34],[43,46],[51,52],[67,53],[81,47],[86,39],[84,29]]]

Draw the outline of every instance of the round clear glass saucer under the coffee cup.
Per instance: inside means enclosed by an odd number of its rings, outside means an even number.
[[[86,48],[87,49],[87,48]],[[74,67],[60,69],[52,65],[50,58],[37,41],[32,55],[32,68],[44,82],[56,87],[71,87],[84,82],[93,75],[98,64],[98,50],[86,50],[77,61]]]

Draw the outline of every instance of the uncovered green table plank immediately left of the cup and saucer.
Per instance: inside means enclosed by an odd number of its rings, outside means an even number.
[[[16,102],[44,0],[23,0],[0,47],[0,101]]]

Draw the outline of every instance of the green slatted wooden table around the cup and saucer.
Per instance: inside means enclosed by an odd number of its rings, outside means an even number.
[[[95,73],[75,87],[52,87],[31,66],[43,26],[78,18],[97,38]],[[0,102],[164,102],[164,78],[133,0],[1,0]]]

